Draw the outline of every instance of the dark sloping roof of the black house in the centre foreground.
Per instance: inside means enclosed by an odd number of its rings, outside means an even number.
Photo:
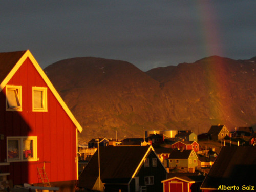
[[[100,147],[100,179],[127,184],[151,146]],[[98,177],[98,150],[79,176],[79,187],[92,189]]]

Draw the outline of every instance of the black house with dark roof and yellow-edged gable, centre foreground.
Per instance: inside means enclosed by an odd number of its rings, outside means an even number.
[[[79,176],[78,187],[100,188],[100,191],[163,191],[161,181],[166,179],[166,173],[151,145],[100,147]]]

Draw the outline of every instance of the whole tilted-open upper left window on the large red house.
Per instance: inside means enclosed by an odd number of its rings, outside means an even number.
[[[22,86],[6,86],[6,111],[22,111]]]

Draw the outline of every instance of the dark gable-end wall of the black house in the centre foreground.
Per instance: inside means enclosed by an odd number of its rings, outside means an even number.
[[[140,167],[140,170],[135,177],[139,177],[140,186],[145,186],[145,176],[154,176],[154,185],[146,185],[146,191],[163,191],[163,184],[161,181],[166,179],[166,170],[159,160],[157,161],[156,167],[152,166],[152,158],[156,158],[156,155],[153,151],[151,151],[146,158],[150,159],[150,166],[144,167],[144,163],[142,163],[142,166]],[[135,186],[135,182],[132,185]],[[132,188],[132,186],[130,188]]]

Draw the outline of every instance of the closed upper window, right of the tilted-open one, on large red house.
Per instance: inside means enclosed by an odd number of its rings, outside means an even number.
[[[45,87],[33,87],[33,110],[47,112],[47,88]]]

